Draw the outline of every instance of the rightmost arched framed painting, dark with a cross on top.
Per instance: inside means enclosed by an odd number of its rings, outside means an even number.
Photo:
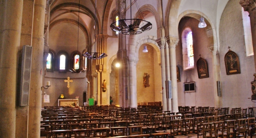
[[[224,60],[227,75],[241,73],[239,59],[235,52],[228,50],[228,53],[225,54]]]

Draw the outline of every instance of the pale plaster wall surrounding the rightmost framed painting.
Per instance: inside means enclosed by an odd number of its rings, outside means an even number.
[[[255,73],[253,56],[246,56],[243,21],[240,0],[230,0],[225,7],[220,20],[220,67],[222,82],[222,99],[225,107],[247,108],[255,106],[251,102],[251,84]],[[227,75],[224,56],[228,47],[234,51],[240,62],[241,74]]]

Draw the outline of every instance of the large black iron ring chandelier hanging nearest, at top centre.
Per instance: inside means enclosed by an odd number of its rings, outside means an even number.
[[[135,35],[150,30],[152,28],[152,24],[145,20],[132,19],[132,0],[130,0],[130,19],[121,19],[113,22],[110,25],[110,28],[121,34]]]

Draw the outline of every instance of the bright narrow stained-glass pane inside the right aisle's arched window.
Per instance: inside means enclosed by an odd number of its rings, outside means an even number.
[[[187,43],[188,43],[189,66],[193,66],[194,65],[194,48],[193,48],[192,31],[188,32],[187,41],[188,41]]]

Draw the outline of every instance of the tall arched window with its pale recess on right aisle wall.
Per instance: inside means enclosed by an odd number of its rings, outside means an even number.
[[[183,70],[194,68],[193,33],[189,27],[182,32],[182,49]]]

